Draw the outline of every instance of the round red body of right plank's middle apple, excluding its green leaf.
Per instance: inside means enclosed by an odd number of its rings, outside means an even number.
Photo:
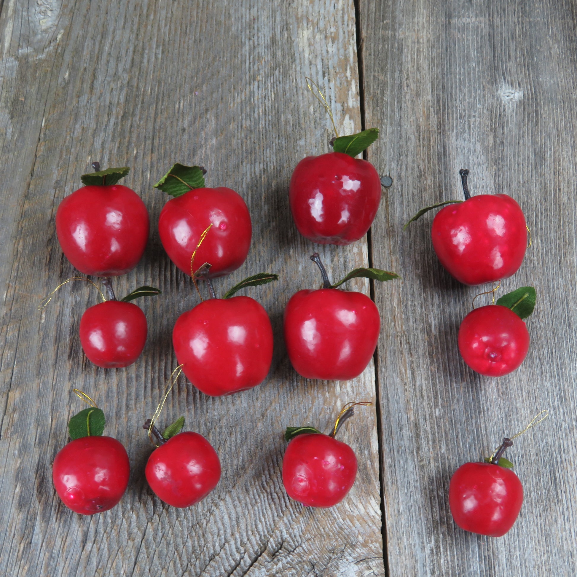
[[[463,360],[489,377],[500,377],[518,368],[529,351],[529,340],[525,323],[501,305],[472,310],[459,327]]]

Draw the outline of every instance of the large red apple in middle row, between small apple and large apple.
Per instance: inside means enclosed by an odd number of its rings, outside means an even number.
[[[256,387],[272,362],[272,327],[263,306],[250,297],[233,297],[242,287],[278,279],[260,273],[181,314],[173,329],[179,365],[190,382],[207,395],[230,395]]]

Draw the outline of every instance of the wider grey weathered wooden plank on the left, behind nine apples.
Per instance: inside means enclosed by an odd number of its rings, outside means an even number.
[[[384,575],[376,409],[359,410],[342,430],[359,460],[342,504],[301,507],[286,496],[280,475],[285,426],[328,430],[344,402],[376,393],[372,364],[348,383],[299,379],[282,342],[288,298],[320,283],[308,259],[317,247],[297,234],[287,199],[295,164],[328,151],[332,136],[305,75],[325,89],[344,133],[361,126],[353,2],[5,0],[1,7],[0,572]],[[148,343],[124,370],[83,359],[80,316],[98,302],[87,283],[67,284],[36,310],[76,273],[59,249],[54,215],[93,160],[131,166],[124,182],[151,213],[145,257],[114,281],[117,293],[141,284],[163,291],[140,301]],[[187,428],[207,436],[223,464],[216,490],[184,510],[148,488],[151,445],[141,429],[176,366],[174,321],[198,302],[155,226],[167,199],[152,183],[177,161],[204,164],[208,184],[238,190],[252,212],[249,260],[218,288],[258,271],[281,275],[274,286],[246,291],[272,318],[268,380],[209,398],[182,379],[168,398],[162,421],[186,415]],[[364,241],[321,254],[335,278],[368,261]],[[369,290],[362,280],[350,286]],[[66,509],[51,482],[68,419],[84,408],[73,387],[104,409],[106,433],[125,444],[132,466],[121,503],[90,518]]]

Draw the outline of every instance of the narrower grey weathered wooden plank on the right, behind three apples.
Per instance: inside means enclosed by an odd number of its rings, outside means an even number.
[[[576,13],[572,2],[362,2],[369,160],[394,184],[372,228],[388,327],[379,346],[388,566],[398,575],[575,575]],[[434,256],[421,207],[511,194],[533,234],[519,272],[538,291],[531,349],[500,379],[473,373],[457,332],[478,288]],[[487,303],[490,301],[487,301]],[[489,455],[541,409],[550,417],[509,449],[525,499],[503,538],[465,533],[448,508],[452,472]]]

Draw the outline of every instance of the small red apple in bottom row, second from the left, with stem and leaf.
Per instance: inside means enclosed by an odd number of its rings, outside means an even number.
[[[201,434],[181,432],[183,425],[181,417],[160,433],[151,421],[144,424],[160,443],[148,458],[148,484],[164,503],[181,508],[204,499],[220,479],[215,449]]]

